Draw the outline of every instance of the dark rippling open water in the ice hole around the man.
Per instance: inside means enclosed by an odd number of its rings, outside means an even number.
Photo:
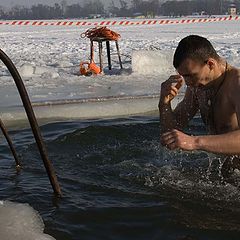
[[[56,239],[240,239],[240,181],[223,181],[216,156],[162,148],[157,118],[61,122],[42,131],[63,198],[52,194],[29,129],[11,132],[20,173],[1,141],[0,198],[29,203]],[[195,120],[191,131],[204,128]]]

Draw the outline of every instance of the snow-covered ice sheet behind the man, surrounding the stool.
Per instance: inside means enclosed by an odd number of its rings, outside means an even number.
[[[105,74],[91,77],[79,76],[80,61],[89,59],[89,40],[80,37],[80,33],[86,29],[86,27],[76,26],[1,26],[0,48],[11,57],[22,73],[32,101],[48,102],[159,94],[161,82],[175,73],[171,67],[171,58],[178,42],[190,34],[207,37],[219,54],[230,64],[240,66],[239,21],[116,26],[112,29],[122,36],[119,46],[124,70],[119,70],[115,45],[112,43],[114,70],[112,72],[107,70],[104,47]],[[97,45],[95,45],[95,61],[96,63],[99,61]],[[7,108],[12,109],[20,105],[21,101],[2,63],[0,64],[0,84],[0,110],[7,114]],[[153,103],[149,103],[151,105],[148,109],[157,110],[155,103],[154,106]],[[105,115],[110,114],[107,108],[106,110],[102,106],[100,108],[102,112],[106,111]],[[85,112],[81,114],[87,116],[89,113],[89,117],[92,116],[91,112],[95,111],[93,108],[84,109]],[[115,115],[117,106],[112,109],[114,109],[112,115]],[[136,112],[134,108],[131,109],[125,113]],[[117,112],[117,115],[119,114],[122,114],[121,110]]]

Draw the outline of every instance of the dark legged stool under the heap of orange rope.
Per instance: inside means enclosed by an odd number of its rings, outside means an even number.
[[[93,42],[97,42],[98,43],[98,49],[99,49],[99,62],[100,62],[100,69],[101,72],[103,70],[103,42],[106,42],[106,48],[107,48],[107,58],[108,58],[108,69],[112,70],[112,63],[111,63],[111,52],[110,52],[110,41],[114,41],[114,40],[109,40],[106,38],[92,38],[91,40],[91,59],[90,61],[93,62]],[[122,66],[122,60],[121,60],[121,55],[120,55],[120,50],[119,50],[119,46],[118,46],[118,41],[114,41],[116,44],[116,49],[117,49],[117,54],[118,54],[118,59],[119,59],[119,64],[121,69],[123,69]]]

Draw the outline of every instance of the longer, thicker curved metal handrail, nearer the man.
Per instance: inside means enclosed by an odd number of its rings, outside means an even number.
[[[20,94],[20,97],[22,99],[23,102],[23,106],[25,108],[30,126],[32,128],[32,132],[33,135],[35,137],[37,146],[38,146],[38,150],[40,152],[40,155],[42,157],[44,166],[46,168],[50,183],[52,185],[53,191],[57,196],[61,196],[61,189],[60,189],[60,185],[58,183],[54,168],[52,166],[51,161],[48,158],[48,154],[47,154],[47,149],[46,146],[43,142],[43,138],[27,93],[27,90],[24,86],[24,83],[22,81],[22,78],[18,72],[18,70],[16,69],[15,65],[13,64],[13,62],[11,61],[11,59],[0,49],[0,59],[2,60],[2,62],[7,66],[9,72],[11,73],[14,82],[17,86],[18,92]]]

